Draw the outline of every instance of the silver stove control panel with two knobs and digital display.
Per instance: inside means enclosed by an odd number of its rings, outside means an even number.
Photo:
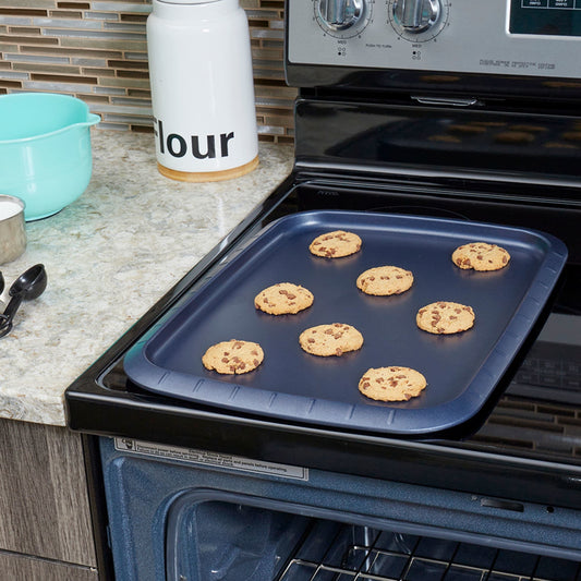
[[[581,0],[290,0],[289,62],[581,78]]]

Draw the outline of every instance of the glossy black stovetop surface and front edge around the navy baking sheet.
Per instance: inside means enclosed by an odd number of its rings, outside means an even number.
[[[376,196],[359,195],[363,187],[358,183],[359,187],[353,184],[342,196],[340,183],[329,175],[323,180],[291,175],[228,237],[227,244],[209,253],[69,388],[69,425],[89,434],[452,486],[505,498],[548,503],[558,491],[564,506],[578,504],[578,493],[570,485],[581,479],[581,311],[576,293],[581,267],[576,264],[566,267],[565,285],[541,340],[522,365],[513,365],[515,378],[508,389],[498,386],[481,413],[437,439],[379,437],[237,414],[154,395],[128,379],[122,366],[128,349],[171,306],[196,292],[267,223],[329,204],[341,207],[349,203],[355,206],[352,209],[384,211],[397,203],[400,192],[396,183],[390,189],[392,195],[382,193],[379,205]],[[428,189],[425,183],[423,187]],[[464,209],[470,214],[470,207]],[[422,206],[399,210],[421,213]],[[423,210],[448,215],[445,208]]]

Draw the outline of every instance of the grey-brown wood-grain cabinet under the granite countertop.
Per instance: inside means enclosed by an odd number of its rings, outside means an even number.
[[[81,436],[0,420],[0,579],[98,579]]]

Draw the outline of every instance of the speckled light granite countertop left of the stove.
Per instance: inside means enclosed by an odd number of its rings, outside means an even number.
[[[261,144],[234,180],[164,178],[149,134],[92,131],[93,177],[59,214],[26,223],[26,252],[2,265],[10,285],[43,263],[47,290],[0,339],[0,417],[65,425],[66,387],[258,205],[292,169],[289,146]]]

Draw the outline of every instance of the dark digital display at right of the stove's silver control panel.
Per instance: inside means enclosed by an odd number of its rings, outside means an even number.
[[[509,32],[581,37],[581,0],[510,0]]]

